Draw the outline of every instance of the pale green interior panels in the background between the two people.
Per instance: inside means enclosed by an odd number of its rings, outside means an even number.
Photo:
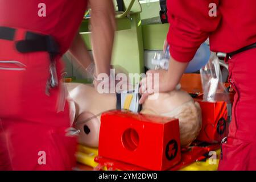
[[[128,73],[144,72],[144,49],[163,49],[163,42],[168,32],[168,24],[141,24],[141,19],[159,16],[159,2],[142,3],[141,6],[142,13],[117,19],[112,64],[118,65]],[[84,20],[80,32],[89,31],[88,24],[88,20]],[[82,33],[82,37],[91,50],[90,34]]]

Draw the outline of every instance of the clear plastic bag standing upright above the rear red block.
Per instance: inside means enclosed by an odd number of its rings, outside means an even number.
[[[200,69],[204,101],[229,103],[228,90],[222,82],[220,62],[216,53],[211,53],[209,62]]]

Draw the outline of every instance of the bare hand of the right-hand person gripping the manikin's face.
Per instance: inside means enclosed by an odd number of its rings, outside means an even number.
[[[139,104],[143,104],[151,94],[170,92],[175,89],[175,86],[172,86],[168,79],[168,71],[164,69],[147,71],[146,77],[142,78],[140,85],[139,93],[142,97]]]

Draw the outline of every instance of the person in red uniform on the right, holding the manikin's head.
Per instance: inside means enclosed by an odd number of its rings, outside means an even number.
[[[216,16],[212,16],[214,6]],[[208,37],[212,51],[229,53],[229,81],[237,94],[219,170],[256,170],[255,7],[255,0],[167,0],[169,70],[149,71],[159,73],[159,92],[167,92],[179,83],[189,61]],[[141,102],[147,95],[143,94]]]

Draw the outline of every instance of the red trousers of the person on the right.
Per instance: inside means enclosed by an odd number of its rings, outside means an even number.
[[[256,170],[256,48],[228,60],[236,90],[229,136],[222,144],[219,170]]]

